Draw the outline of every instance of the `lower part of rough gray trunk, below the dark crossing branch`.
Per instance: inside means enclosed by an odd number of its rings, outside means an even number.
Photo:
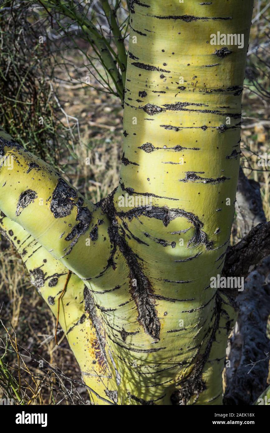
[[[244,291],[236,297],[240,313],[228,341],[227,357],[231,366],[225,371],[224,404],[253,404],[267,387],[269,362],[259,362],[249,374],[247,364],[264,359],[264,352],[270,351],[266,333],[270,311],[269,276],[270,257],[267,257],[246,278]]]

